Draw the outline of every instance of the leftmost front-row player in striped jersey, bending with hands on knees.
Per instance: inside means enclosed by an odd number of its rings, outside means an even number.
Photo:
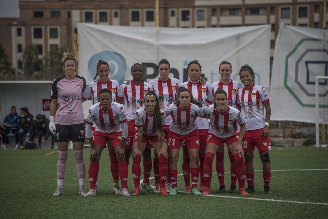
[[[96,195],[95,184],[99,172],[99,160],[102,150],[110,140],[118,161],[118,171],[121,176],[121,195],[130,196],[127,190],[128,166],[125,161],[125,144],[128,136],[128,124],[123,107],[112,102],[112,92],[102,89],[99,92],[99,102],[93,104],[86,118],[86,136],[91,145],[89,182],[90,191],[84,196]],[[92,136],[92,124],[96,124]],[[121,128],[122,127],[122,128]],[[122,131],[123,130],[123,131]]]

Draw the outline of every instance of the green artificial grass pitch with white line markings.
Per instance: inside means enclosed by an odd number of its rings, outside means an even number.
[[[50,152],[54,152],[48,154]],[[89,190],[88,168],[90,149],[83,151],[86,164],[86,190]],[[262,164],[258,151],[254,152],[255,193],[248,196],[228,193],[230,161],[225,149],[226,192],[219,188],[216,174],[212,176],[213,196],[161,196],[145,193],[124,197],[112,193],[113,180],[107,150],[99,162],[98,194],[79,195],[73,150],[69,150],[64,180],[64,195],[52,196],[57,187],[54,150],[0,151],[1,191],[0,218],[327,218],[328,217],[328,148],[272,148],[270,188],[264,194]],[[215,160],[215,159],[214,159]],[[182,152],[178,174],[182,174]],[[128,191],[132,194],[132,159],[129,164]],[[142,174],[141,162],[141,178]],[[215,161],[213,162],[215,171]],[[152,172],[152,176],[154,172]],[[154,179],[150,180],[154,185]],[[184,190],[183,176],[178,176],[178,189]],[[199,188],[199,180],[198,180]],[[245,185],[247,188],[247,183]]]

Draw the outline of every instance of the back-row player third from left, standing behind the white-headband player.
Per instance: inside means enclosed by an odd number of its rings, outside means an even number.
[[[117,102],[124,102],[124,111],[128,119],[128,138],[125,147],[125,158],[129,165],[129,159],[132,153],[133,136],[135,133],[134,116],[135,112],[143,106],[145,95],[153,90],[153,86],[142,80],[144,74],[143,66],[139,63],[131,67],[131,84],[122,84],[117,93]],[[123,101],[124,99],[124,101]],[[144,189],[147,192],[152,191],[149,185],[149,177],[152,173],[152,145],[149,143],[143,153],[144,166]]]

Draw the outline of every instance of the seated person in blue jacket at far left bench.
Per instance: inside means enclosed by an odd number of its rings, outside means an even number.
[[[12,106],[10,108],[10,114],[6,116],[5,120],[3,121],[3,126],[5,130],[2,133],[2,144],[3,144],[3,149],[6,150],[6,137],[8,133],[13,133],[15,134],[16,137],[16,147],[15,149],[18,149],[18,119],[19,116],[16,112],[16,107]]]

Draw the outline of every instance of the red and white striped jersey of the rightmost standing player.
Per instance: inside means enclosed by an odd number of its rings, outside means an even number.
[[[270,101],[264,87],[253,84],[252,87],[239,89],[237,103],[241,105],[241,115],[246,123],[246,130],[255,130],[264,127],[264,105]]]

